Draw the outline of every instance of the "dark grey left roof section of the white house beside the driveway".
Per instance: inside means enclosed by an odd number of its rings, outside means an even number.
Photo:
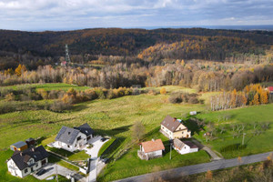
[[[55,140],[63,142],[68,145],[72,145],[76,140],[76,136],[79,134],[79,130],[63,126],[56,136]]]

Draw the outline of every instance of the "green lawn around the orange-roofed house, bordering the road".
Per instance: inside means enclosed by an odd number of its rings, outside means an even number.
[[[137,150],[139,147],[138,145],[135,145],[124,156],[116,160],[115,164],[107,166],[104,171],[100,173],[98,181],[112,181],[119,178],[133,177],[168,168],[184,167],[210,161],[210,157],[204,150],[200,150],[197,153],[180,155],[176,150],[172,149],[171,159],[169,159],[170,147],[168,138],[160,133],[158,134],[154,132],[151,132],[151,135],[147,136],[147,140],[150,140],[151,137],[162,139],[165,146],[163,157],[154,158],[148,161],[141,160],[137,157]]]

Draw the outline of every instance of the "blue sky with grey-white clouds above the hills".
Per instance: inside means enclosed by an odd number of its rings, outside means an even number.
[[[273,25],[273,0],[0,0],[0,29]]]

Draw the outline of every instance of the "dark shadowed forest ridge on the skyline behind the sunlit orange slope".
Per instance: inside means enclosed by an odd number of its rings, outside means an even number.
[[[0,51],[33,56],[64,56],[65,45],[71,54],[136,55],[158,43],[184,41],[192,36],[246,38],[255,45],[273,43],[273,32],[215,30],[205,28],[120,29],[95,28],[76,31],[23,32],[0,30]]]

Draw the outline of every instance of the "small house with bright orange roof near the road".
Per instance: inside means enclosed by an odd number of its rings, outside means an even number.
[[[161,139],[147,142],[142,142],[140,144],[140,149],[137,151],[137,156],[141,159],[149,160],[151,158],[162,157],[162,152],[165,150],[165,147]]]

